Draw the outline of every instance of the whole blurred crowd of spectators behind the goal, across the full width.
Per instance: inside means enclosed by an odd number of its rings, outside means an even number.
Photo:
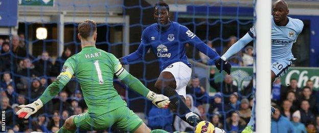
[[[227,48],[237,41],[231,37]],[[211,41],[208,45],[213,48]],[[48,52],[42,52],[38,57],[29,55],[26,49],[24,35],[12,36],[12,45],[8,39],[0,38],[0,92],[1,108],[6,110],[6,125],[8,131],[30,132],[57,131],[64,121],[72,116],[87,111],[80,86],[73,78],[53,100],[42,107],[30,119],[18,119],[15,115],[18,105],[28,104],[36,100],[55,80],[63,63],[73,53],[65,47],[63,54],[53,61]],[[224,49],[223,51],[226,51]],[[240,59],[233,59],[232,64],[251,65],[253,63],[253,48],[246,47]],[[199,53],[204,63],[209,58]],[[236,58],[238,56],[236,55]],[[223,81],[215,81],[215,71],[210,72],[210,85],[216,90],[210,96],[200,84],[200,79],[194,76],[187,87],[186,104],[203,120],[212,122],[216,127],[228,132],[240,132],[250,119],[252,105],[252,81],[239,90],[234,85],[231,75],[225,75]],[[281,84],[280,79],[272,86],[271,100],[276,106],[276,113],[272,117],[272,130],[280,132],[286,128],[298,131],[319,131],[319,92],[313,90],[313,82],[307,81],[303,88],[298,87],[296,79],[290,84]],[[167,131],[191,131],[193,127],[172,114],[170,109],[159,109],[152,106],[146,110],[147,125],[152,128],[161,128]],[[277,129],[277,128],[278,129]],[[291,127],[291,128],[290,128]]]

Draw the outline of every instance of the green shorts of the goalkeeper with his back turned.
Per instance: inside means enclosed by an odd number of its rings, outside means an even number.
[[[129,132],[134,132],[143,123],[142,119],[127,106],[121,106],[95,118],[90,117],[87,112],[82,113],[76,115],[73,122],[82,130],[103,130],[115,125]]]

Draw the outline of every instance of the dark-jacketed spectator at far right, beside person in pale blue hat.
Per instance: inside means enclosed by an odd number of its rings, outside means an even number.
[[[310,122],[315,123],[315,116],[311,110],[309,110],[310,104],[307,100],[301,102],[300,108],[301,123],[304,123],[305,125]]]

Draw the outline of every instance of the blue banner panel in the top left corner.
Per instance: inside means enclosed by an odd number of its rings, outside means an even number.
[[[18,19],[18,1],[0,0],[0,27],[14,27]]]

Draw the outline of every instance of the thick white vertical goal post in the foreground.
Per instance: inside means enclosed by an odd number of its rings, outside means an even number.
[[[271,1],[256,0],[256,132],[270,133]]]

